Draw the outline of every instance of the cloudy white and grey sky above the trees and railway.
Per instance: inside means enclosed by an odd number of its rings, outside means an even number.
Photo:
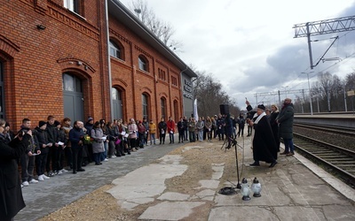
[[[121,0],[130,8],[131,0]],[[177,55],[186,65],[211,73],[241,109],[250,103],[278,103],[308,91],[318,72],[343,79],[355,71],[355,31],[312,36],[316,64],[339,36],[325,58],[310,69],[307,38],[294,38],[296,24],[355,15],[355,0],[147,0],[155,15],[175,28],[173,39],[183,43]],[[286,95],[285,95],[286,94]]]

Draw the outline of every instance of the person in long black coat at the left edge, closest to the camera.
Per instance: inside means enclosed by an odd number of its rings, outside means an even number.
[[[8,144],[4,141],[4,119],[0,119],[0,219],[13,217],[26,205],[23,201],[18,160],[25,154],[32,131],[20,131]]]

